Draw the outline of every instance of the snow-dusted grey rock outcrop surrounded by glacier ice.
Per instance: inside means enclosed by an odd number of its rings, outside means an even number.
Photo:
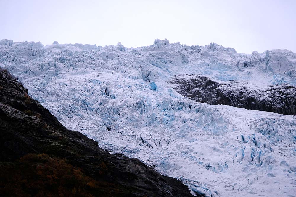
[[[177,75],[169,83],[183,96],[211,105],[296,114],[296,87],[283,84],[256,87],[243,82],[218,82],[201,75]]]

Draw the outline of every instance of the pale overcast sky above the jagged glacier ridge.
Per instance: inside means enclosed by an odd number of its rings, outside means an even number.
[[[116,45],[170,43],[296,52],[296,0],[0,0],[0,40]]]

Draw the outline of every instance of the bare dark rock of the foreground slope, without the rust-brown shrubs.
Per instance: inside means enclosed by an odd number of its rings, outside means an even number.
[[[109,154],[65,128],[7,71],[0,71],[0,169],[29,153],[65,158],[97,181],[112,183],[97,196],[192,196],[185,185],[138,159]],[[101,173],[104,162],[106,173]],[[3,170],[3,169],[2,169]],[[1,183],[2,184],[2,183]]]

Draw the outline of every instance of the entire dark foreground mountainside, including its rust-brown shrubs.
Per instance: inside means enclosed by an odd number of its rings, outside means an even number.
[[[109,154],[94,140],[68,130],[3,70],[0,71],[0,170],[5,172],[0,175],[0,196],[9,195],[13,185],[23,196],[31,196],[30,192],[32,196],[38,193],[42,196],[40,191],[33,191],[36,187],[53,196],[69,188],[72,190],[65,191],[64,196],[68,196],[67,192],[71,196],[192,196],[178,180],[160,175],[138,159]],[[47,183],[49,180],[44,177],[51,177],[54,182]],[[20,179],[26,180],[20,183]],[[12,183],[14,180],[18,183]],[[25,188],[29,183],[32,190]]]

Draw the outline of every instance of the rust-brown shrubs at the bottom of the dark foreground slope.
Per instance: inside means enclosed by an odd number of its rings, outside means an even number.
[[[104,188],[112,187],[86,176],[65,159],[47,154],[28,154],[16,163],[0,163],[0,168],[4,196],[110,196]]]

